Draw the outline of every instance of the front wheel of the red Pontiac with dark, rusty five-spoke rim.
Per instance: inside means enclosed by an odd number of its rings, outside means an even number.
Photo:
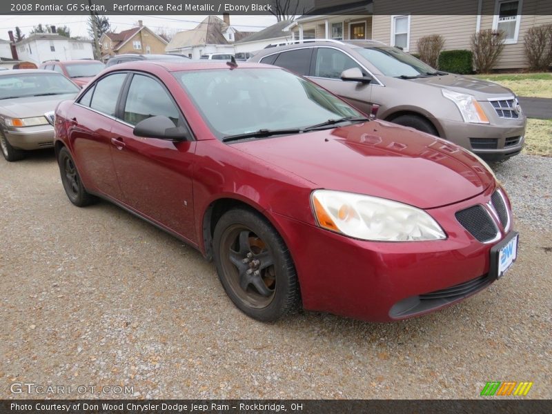
[[[264,217],[245,208],[229,210],[215,226],[213,251],[226,294],[246,315],[274,322],[297,310],[295,266]]]

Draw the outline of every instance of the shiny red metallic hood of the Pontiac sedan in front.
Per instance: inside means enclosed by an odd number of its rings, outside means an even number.
[[[435,208],[475,197],[494,178],[467,150],[384,121],[231,144],[313,183]]]

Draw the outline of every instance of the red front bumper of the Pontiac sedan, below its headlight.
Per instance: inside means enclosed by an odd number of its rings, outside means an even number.
[[[487,276],[491,248],[504,239],[511,224],[508,229],[499,224],[500,239],[484,244],[460,225],[455,212],[486,204],[493,190],[426,210],[448,235],[438,241],[366,242],[274,215],[295,261],[304,307],[386,322],[435,311],[489,286],[494,282]],[[422,308],[400,305],[409,298],[455,286],[469,288],[456,299]]]

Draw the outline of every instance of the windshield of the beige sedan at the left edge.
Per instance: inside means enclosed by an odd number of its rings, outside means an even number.
[[[0,99],[66,95],[79,88],[58,73],[26,73],[0,76]]]

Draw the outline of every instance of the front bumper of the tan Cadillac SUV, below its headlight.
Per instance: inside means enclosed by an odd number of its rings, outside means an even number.
[[[526,119],[502,119],[502,125],[469,124],[435,119],[440,137],[475,152],[486,161],[502,161],[521,152],[525,142]]]

